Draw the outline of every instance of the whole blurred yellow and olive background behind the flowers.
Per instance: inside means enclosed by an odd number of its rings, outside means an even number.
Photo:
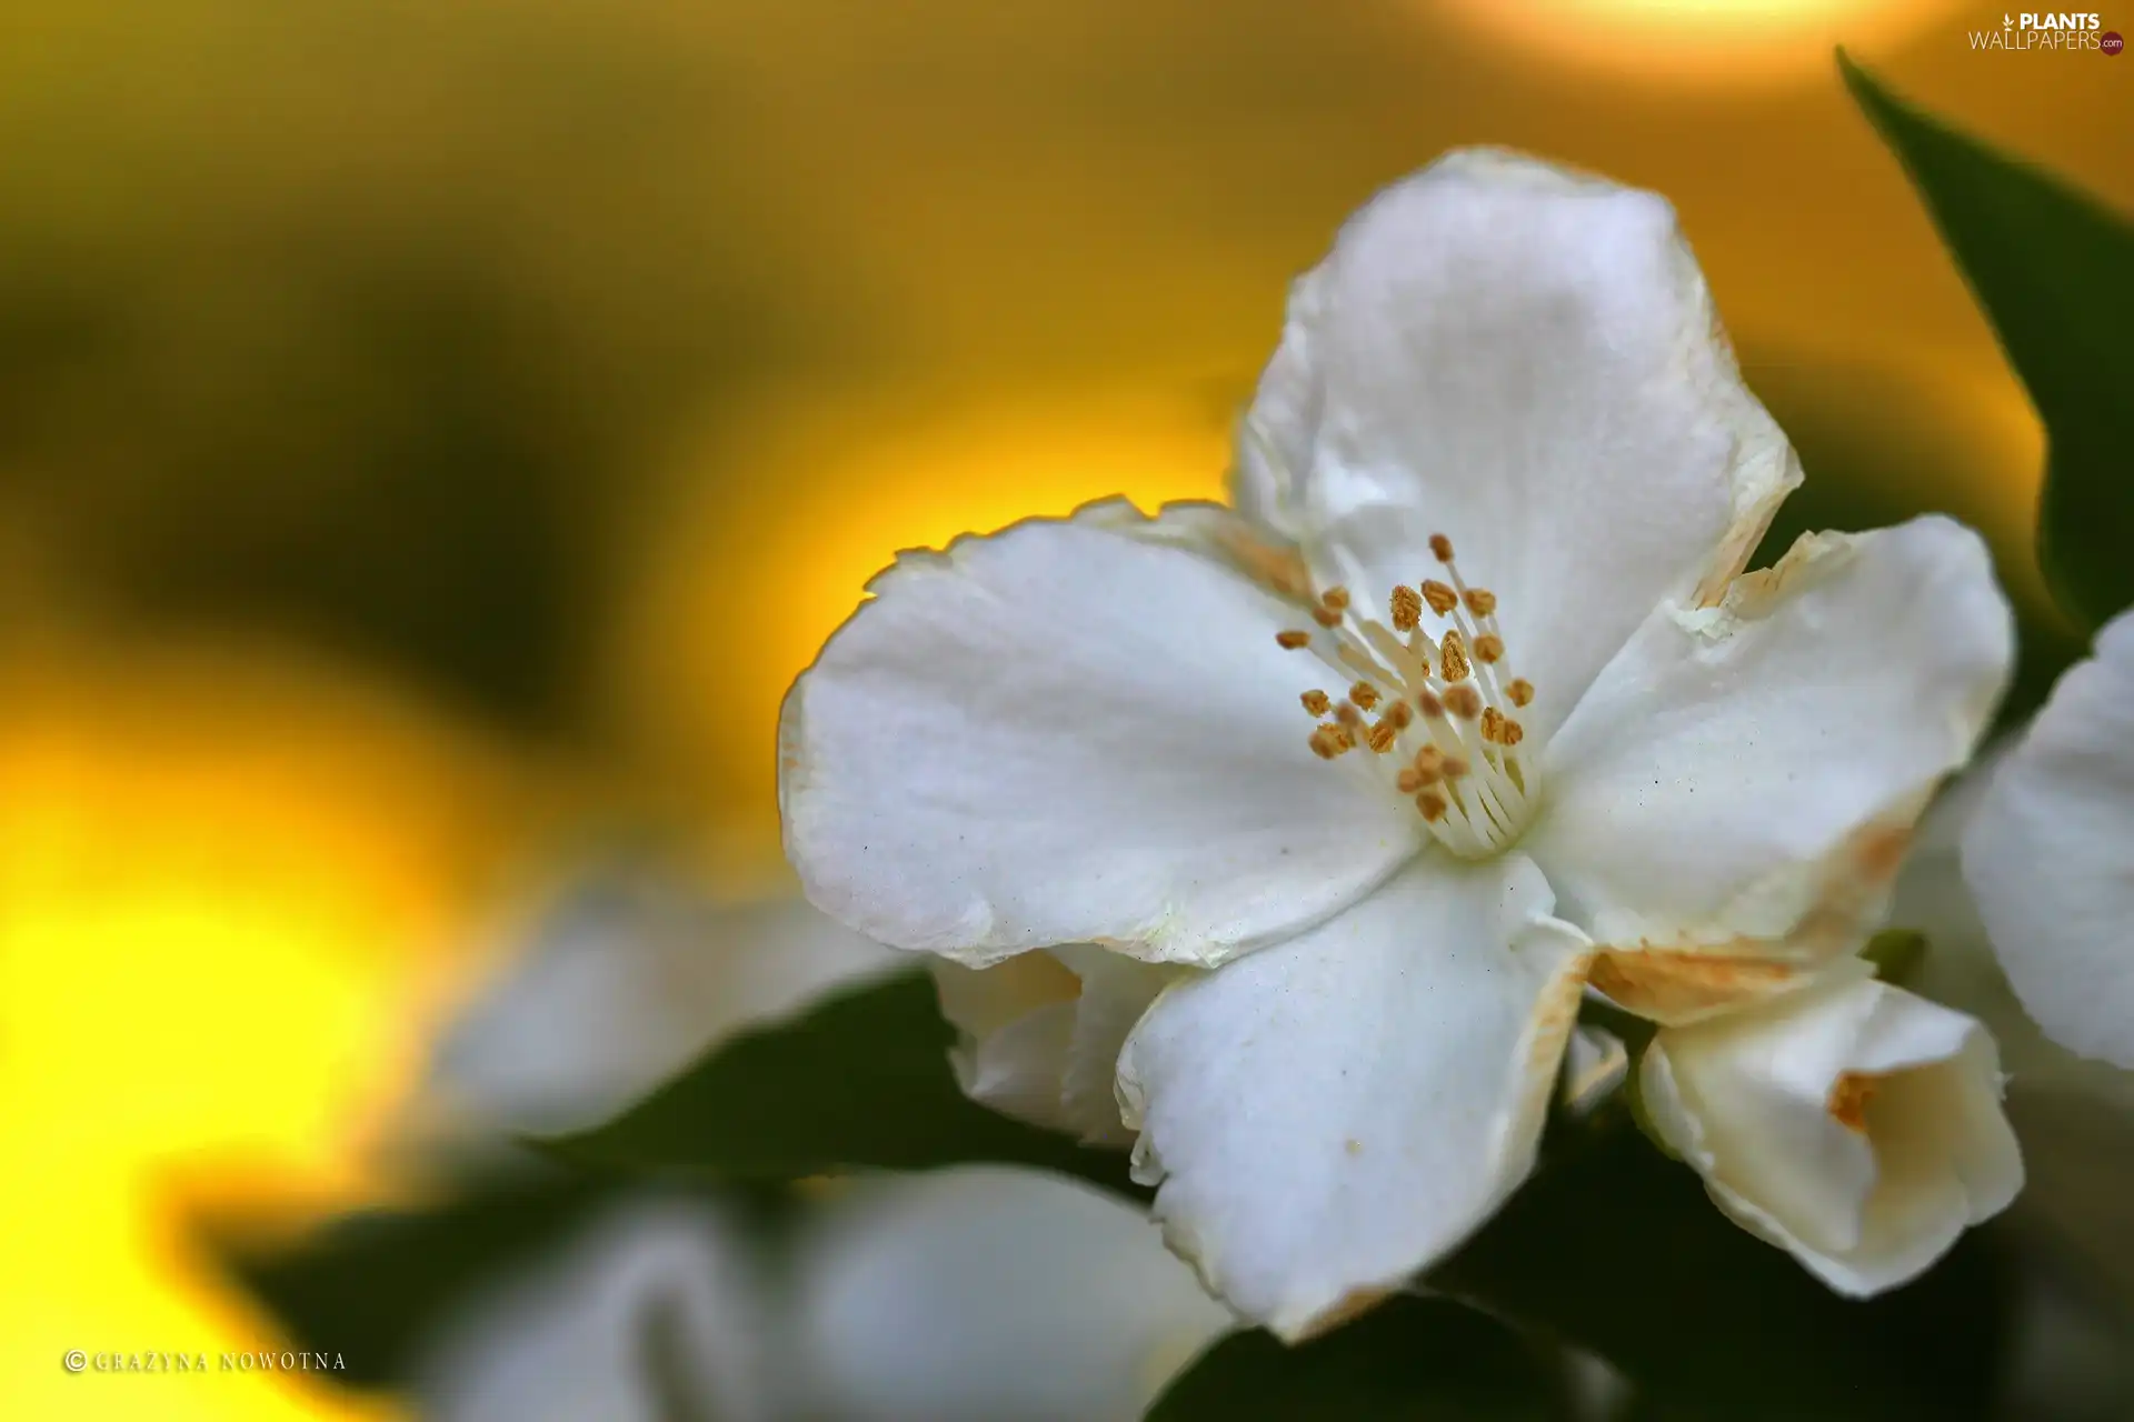
[[[2036,603],[2040,435],[1829,60],[2134,207],[2134,60],[1972,51],[1997,23],[9,6],[9,1416],[388,1416],[60,1354],[269,1347],[190,1211],[376,1190],[469,944],[553,855],[657,825],[773,859],[779,697],[896,548],[1219,492],[1289,277],[1447,145],[1669,194],[1812,495],[1980,522]]]

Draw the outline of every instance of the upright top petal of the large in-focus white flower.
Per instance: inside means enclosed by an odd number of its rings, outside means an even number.
[[[1233,492],[1376,608],[1449,535],[1547,729],[1656,603],[1739,571],[1799,480],[1665,198],[1466,149],[1295,284]]]

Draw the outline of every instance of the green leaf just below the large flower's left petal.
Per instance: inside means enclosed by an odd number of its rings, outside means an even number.
[[[1125,1153],[1084,1149],[973,1104],[950,1070],[952,1040],[933,981],[896,976],[736,1036],[617,1119],[538,1149],[711,1179],[988,1160],[1135,1194]]]

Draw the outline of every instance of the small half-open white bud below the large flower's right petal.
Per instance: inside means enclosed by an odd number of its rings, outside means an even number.
[[[1665,1028],[1639,1087],[1718,1207],[1842,1294],[1916,1277],[2023,1187],[1993,1038],[1865,964]]]

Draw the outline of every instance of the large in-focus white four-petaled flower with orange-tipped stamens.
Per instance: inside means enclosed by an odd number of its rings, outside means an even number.
[[[1982,544],[1737,578],[1797,482],[1665,200],[1453,153],[1291,294],[1240,514],[1103,503],[871,584],[785,701],[787,855],[965,966],[1212,970],[1127,1040],[1125,1124],[1174,1245],[1306,1335],[1524,1179],[1590,970],[1679,1015],[1848,951],[1970,755]]]

